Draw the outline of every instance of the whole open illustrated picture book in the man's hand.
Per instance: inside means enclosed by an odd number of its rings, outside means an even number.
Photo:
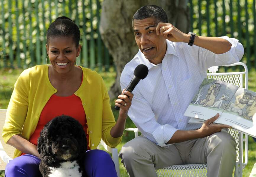
[[[215,123],[256,137],[256,93],[230,83],[204,79],[184,116],[202,123],[220,114]]]

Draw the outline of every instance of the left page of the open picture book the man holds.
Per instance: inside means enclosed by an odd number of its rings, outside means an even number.
[[[217,113],[221,115],[238,88],[226,82],[204,79],[184,116],[207,120]]]

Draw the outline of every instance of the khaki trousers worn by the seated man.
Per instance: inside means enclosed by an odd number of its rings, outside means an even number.
[[[119,157],[130,177],[156,177],[155,169],[170,165],[207,163],[208,177],[231,177],[236,143],[225,130],[205,138],[160,147],[144,136],[127,142]]]

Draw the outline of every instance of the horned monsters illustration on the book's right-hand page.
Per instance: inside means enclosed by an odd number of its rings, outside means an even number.
[[[233,112],[238,116],[252,121],[256,113],[256,95],[254,92],[239,88],[224,112]]]

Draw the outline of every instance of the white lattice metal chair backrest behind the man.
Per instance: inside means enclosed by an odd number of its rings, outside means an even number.
[[[219,80],[223,82],[228,82],[231,84],[234,84],[236,86],[248,89],[248,70],[247,66],[244,63],[234,63],[232,65],[224,65],[225,67],[230,67],[230,66],[235,66],[235,65],[242,65],[244,67],[244,71],[242,72],[225,72],[225,73],[215,73],[218,71],[218,66],[213,66],[209,68],[209,72],[207,74],[207,78],[209,79],[214,79],[214,80]],[[229,134],[232,135],[236,141],[236,162],[237,165],[240,165],[240,172],[242,171],[242,168],[247,164],[247,152],[248,152],[248,139],[246,138],[245,140],[243,139],[243,134],[239,133],[236,130],[229,129]],[[248,135],[246,135],[248,137]],[[246,149],[245,149],[245,163],[243,163],[243,143],[241,141],[246,142]],[[240,142],[239,142],[240,141]],[[239,153],[240,152],[240,153]],[[236,166],[237,167],[237,166]]]

